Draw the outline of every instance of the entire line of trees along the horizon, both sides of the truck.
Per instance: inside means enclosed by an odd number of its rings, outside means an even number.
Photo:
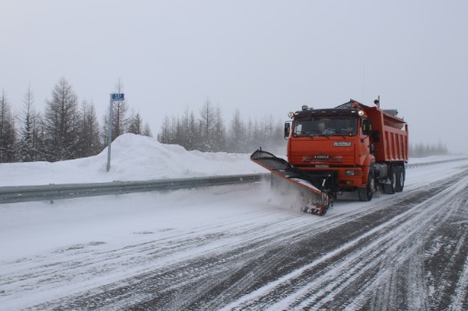
[[[115,93],[122,92],[121,82]],[[108,143],[109,111],[99,125],[94,104],[82,101],[70,83],[61,78],[40,113],[34,107],[34,94],[29,87],[22,100],[20,116],[13,116],[10,102],[0,95],[0,163],[72,160],[93,156]],[[113,103],[112,141],[124,133],[152,136],[139,113],[130,111],[126,101]],[[248,153],[259,147],[284,154],[283,122],[272,115],[263,119],[242,119],[236,110],[229,122],[222,118],[221,108],[209,100],[196,116],[186,109],[183,115],[165,117],[160,143],[173,143],[188,151]],[[446,155],[447,147],[438,143],[416,143],[409,146],[410,157]]]

